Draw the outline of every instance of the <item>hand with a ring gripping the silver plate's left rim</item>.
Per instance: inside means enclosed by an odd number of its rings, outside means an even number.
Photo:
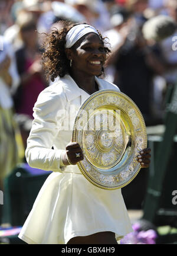
[[[69,164],[76,165],[84,159],[83,151],[77,142],[68,143],[65,149],[65,159],[68,159]]]

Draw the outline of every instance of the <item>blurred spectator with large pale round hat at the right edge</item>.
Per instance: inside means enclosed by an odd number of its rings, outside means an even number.
[[[177,55],[175,48],[176,39],[176,21],[166,15],[158,15],[151,18],[143,26],[143,34],[146,40],[152,45],[158,42],[161,51],[161,65],[163,66],[163,77],[154,79],[155,97],[153,111],[165,113],[165,94],[168,85],[176,83]],[[174,48],[173,48],[174,47]]]

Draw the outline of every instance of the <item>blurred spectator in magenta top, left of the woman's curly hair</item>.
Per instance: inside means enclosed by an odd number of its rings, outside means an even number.
[[[28,114],[32,118],[32,108],[40,92],[47,86],[40,64],[38,34],[35,21],[30,18],[21,23],[19,33],[23,46],[16,52],[18,73],[21,84],[14,97],[17,113]]]

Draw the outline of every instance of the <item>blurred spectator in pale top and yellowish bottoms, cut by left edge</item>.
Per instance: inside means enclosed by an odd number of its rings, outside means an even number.
[[[18,152],[15,142],[12,93],[17,89],[17,73],[14,52],[11,44],[0,37],[0,190],[3,179],[17,164]]]

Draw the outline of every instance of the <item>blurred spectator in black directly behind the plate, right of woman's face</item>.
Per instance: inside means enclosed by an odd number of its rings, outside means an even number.
[[[116,76],[114,84],[128,95],[140,108],[146,125],[153,125],[151,111],[153,76],[162,75],[163,67],[160,63],[159,47],[148,46],[140,29],[132,30],[132,23],[128,25],[130,31],[121,47],[113,52],[113,58],[107,63],[114,64]],[[143,88],[143,89],[142,89]]]

